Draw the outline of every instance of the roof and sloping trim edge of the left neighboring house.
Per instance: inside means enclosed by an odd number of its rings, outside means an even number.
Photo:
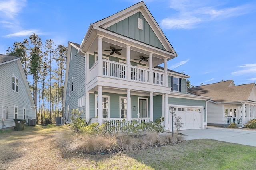
[[[0,54],[0,65],[6,64],[6,63],[10,63],[10,62],[14,62],[14,61],[17,61],[18,68],[20,70],[20,74],[22,76],[22,80],[23,80],[23,82],[25,84],[25,88],[26,88],[26,91],[28,93],[28,97],[30,99],[30,102],[31,102],[33,107],[36,107],[35,103],[34,103],[34,100],[32,98],[32,94],[31,94],[31,91],[30,91],[30,88],[29,88],[29,85],[28,85],[28,81],[27,81],[27,78],[26,78],[26,75],[25,75],[25,72],[24,72],[24,69],[23,69],[20,57],[16,57],[16,56],[12,56],[12,55]]]

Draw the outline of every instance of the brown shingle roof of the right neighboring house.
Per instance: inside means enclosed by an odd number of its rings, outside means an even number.
[[[223,103],[248,101],[254,88],[254,83],[235,86],[233,80],[228,80],[188,88],[187,91],[199,96],[210,96],[212,101]]]

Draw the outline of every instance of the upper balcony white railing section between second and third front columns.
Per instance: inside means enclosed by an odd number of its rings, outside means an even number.
[[[138,82],[149,82],[149,70],[131,66],[131,79]]]

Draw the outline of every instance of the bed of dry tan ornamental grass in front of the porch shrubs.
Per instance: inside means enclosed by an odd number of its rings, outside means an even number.
[[[170,133],[146,133],[145,135],[129,135],[123,133],[116,137],[96,135],[89,136],[85,133],[74,133],[71,130],[62,131],[56,135],[58,145],[68,152],[76,153],[102,153],[102,152],[130,152],[148,147],[174,144],[184,141],[182,137],[171,137]]]

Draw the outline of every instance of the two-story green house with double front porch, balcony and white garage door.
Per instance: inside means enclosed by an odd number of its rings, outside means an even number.
[[[174,57],[143,1],[91,24],[81,44],[68,43],[64,119],[69,122],[77,108],[86,121],[100,124],[163,116],[168,130],[173,106],[185,123],[182,129],[206,127],[210,98],[187,94],[190,76],[168,69]]]

